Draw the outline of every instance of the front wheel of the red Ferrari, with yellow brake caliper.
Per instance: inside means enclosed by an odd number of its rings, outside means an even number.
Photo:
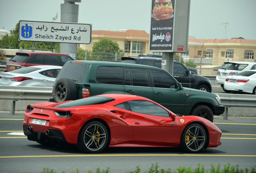
[[[182,132],[180,139],[180,146],[186,152],[198,153],[202,151],[207,141],[207,135],[204,128],[193,123],[188,125]]]

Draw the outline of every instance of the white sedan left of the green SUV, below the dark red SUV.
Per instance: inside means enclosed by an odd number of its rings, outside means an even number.
[[[62,66],[40,65],[20,68],[0,74],[0,85],[52,87]]]

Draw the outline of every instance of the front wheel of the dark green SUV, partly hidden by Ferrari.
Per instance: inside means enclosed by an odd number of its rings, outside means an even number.
[[[194,110],[192,111],[192,115],[203,117],[213,123],[213,112],[208,106],[199,105],[195,107]]]

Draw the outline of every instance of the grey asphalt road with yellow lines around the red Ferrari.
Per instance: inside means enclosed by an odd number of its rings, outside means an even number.
[[[109,173],[148,171],[152,164],[159,169],[177,171],[179,166],[195,169],[203,164],[210,172],[211,164],[217,167],[230,163],[239,169],[256,166],[256,118],[214,117],[223,135],[219,147],[188,154],[177,148],[108,148],[100,154],[80,153],[74,146],[44,146],[27,140],[23,135],[22,112],[10,115],[0,112],[0,173],[40,173],[43,168],[54,169],[57,173],[71,173],[79,169],[96,172],[109,167]],[[168,134],[166,134],[168,135]]]

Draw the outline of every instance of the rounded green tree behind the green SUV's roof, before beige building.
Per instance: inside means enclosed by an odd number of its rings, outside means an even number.
[[[108,38],[101,38],[98,42],[95,42],[92,49],[92,52],[105,52],[109,54],[116,54],[116,52],[121,54],[124,52],[122,49],[120,50],[116,41]]]

